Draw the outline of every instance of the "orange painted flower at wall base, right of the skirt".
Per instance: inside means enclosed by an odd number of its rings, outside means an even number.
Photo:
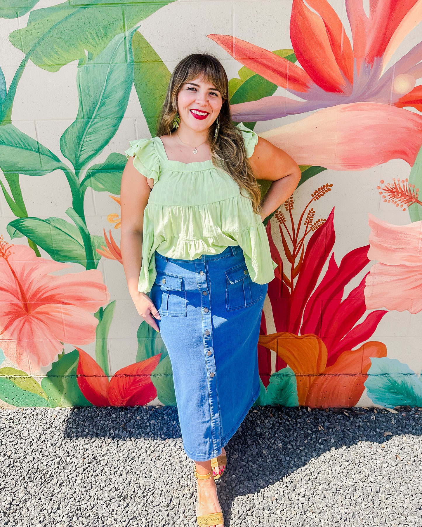
[[[300,406],[344,408],[356,406],[371,366],[370,357],[386,357],[387,348],[372,341],[342,352],[327,367],[327,347],[317,335],[282,331],[260,335],[259,343],[272,349],[296,375]]]

